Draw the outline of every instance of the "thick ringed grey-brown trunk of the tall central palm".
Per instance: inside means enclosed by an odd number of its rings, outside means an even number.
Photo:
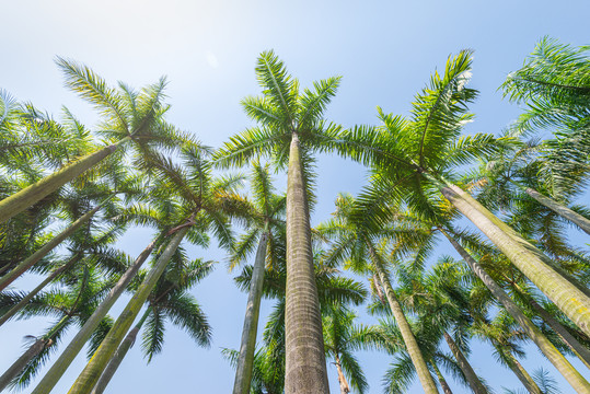
[[[286,394],[328,394],[322,316],[315,285],[310,212],[299,138],[287,175]]]

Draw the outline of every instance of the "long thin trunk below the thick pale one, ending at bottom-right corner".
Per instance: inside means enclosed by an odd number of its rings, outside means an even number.
[[[441,231],[459,252],[461,257],[467,263],[471,269],[484,282],[491,294],[500,301],[508,313],[527,333],[527,336],[539,347],[545,357],[557,368],[559,373],[571,384],[578,393],[590,393],[590,384],[583,376],[569,363],[569,361],[555,348],[555,346],[541,333],[541,331],[527,317],[520,308],[508,297],[508,294],[491,279],[491,277],[482,268],[479,264],[446,231]]]

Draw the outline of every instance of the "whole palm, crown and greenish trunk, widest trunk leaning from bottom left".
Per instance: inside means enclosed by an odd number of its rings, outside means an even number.
[[[232,244],[233,236],[229,228],[223,197],[241,185],[242,177],[213,179],[210,164],[206,159],[208,154],[206,149],[185,147],[181,153],[181,159],[184,160],[185,164],[182,169],[174,164],[172,160],[165,159],[157,152],[150,153],[149,165],[162,182],[162,187],[158,187],[154,192],[160,194],[155,197],[160,200],[176,197],[175,204],[172,205],[174,210],[170,215],[176,220],[178,218],[187,219],[169,231],[167,235],[172,235],[172,237],[166,247],[158,257],[152,269],[138,287],[101,346],[96,349],[91,361],[76,380],[70,389],[72,394],[90,393],[96,384],[101,373],[123,341],[125,334],[129,331],[141,306],[160,276],[164,273],[171,257],[185,235],[188,236],[189,241],[200,241],[203,240],[203,233],[211,231],[218,237],[221,246],[230,247]],[[189,233],[192,229],[193,231]],[[39,390],[39,393],[45,393],[45,390]]]

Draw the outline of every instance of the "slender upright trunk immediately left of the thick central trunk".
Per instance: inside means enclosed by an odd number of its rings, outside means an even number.
[[[265,225],[261,235],[250,292],[247,296],[246,316],[242,329],[242,344],[240,356],[238,357],[238,368],[235,381],[233,383],[233,394],[250,394],[250,382],[252,380],[252,368],[254,366],[254,350],[256,348],[256,332],[258,329],[258,315],[261,312],[261,299],[263,297],[264,269],[266,262],[266,245],[268,242],[268,224]]]

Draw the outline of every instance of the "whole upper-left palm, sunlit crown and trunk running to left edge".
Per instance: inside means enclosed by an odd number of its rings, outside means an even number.
[[[163,120],[169,108],[162,103],[165,79],[140,92],[120,82],[118,89],[113,89],[85,66],[62,58],[57,58],[56,62],[66,76],[67,85],[104,116],[101,134],[113,143],[71,161],[59,171],[1,200],[0,223],[95,167],[128,141],[136,142],[134,146],[139,161],[142,161],[141,155],[153,149],[170,150],[190,141]]]

